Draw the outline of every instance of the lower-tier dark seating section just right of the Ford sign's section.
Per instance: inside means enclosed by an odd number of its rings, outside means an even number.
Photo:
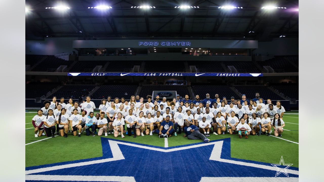
[[[230,100],[231,97],[235,97],[235,99],[239,99],[238,95],[228,86],[228,85],[201,85],[192,83],[192,91],[193,94],[199,95],[201,99],[206,98],[206,94],[208,93],[210,98],[214,99],[215,95],[223,99],[226,97],[227,100]]]

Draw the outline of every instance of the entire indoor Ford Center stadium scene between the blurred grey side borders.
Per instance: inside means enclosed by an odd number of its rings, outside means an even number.
[[[26,0],[25,180],[298,181],[298,12]]]

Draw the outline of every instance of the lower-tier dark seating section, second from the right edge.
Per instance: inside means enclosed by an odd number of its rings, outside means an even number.
[[[234,87],[241,93],[245,94],[247,99],[255,98],[255,93],[259,92],[260,97],[264,100],[283,100],[282,97],[278,96],[270,87],[260,85],[234,85]],[[227,97],[226,97],[227,98]],[[273,101],[272,101],[273,102]]]

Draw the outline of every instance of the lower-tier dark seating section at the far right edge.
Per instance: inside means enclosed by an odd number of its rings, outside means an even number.
[[[271,86],[285,96],[298,100],[298,83],[271,84]]]

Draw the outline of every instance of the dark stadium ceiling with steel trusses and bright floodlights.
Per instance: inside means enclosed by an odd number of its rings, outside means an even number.
[[[275,6],[279,8],[270,10],[261,8],[267,5],[266,0],[232,3],[224,0],[69,0],[62,2],[69,7],[64,10],[53,8],[60,6],[56,2],[26,0],[29,9],[26,11],[27,40],[45,37],[84,40],[128,37],[271,40],[281,35],[298,37],[298,0],[278,1]],[[108,9],[100,9],[100,5],[106,5]]]

